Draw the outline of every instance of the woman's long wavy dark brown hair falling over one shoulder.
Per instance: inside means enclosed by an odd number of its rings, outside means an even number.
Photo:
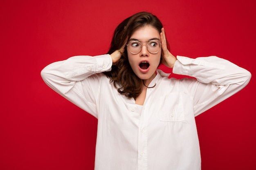
[[[148,12],[139,12],[134,15],[126,18],[121,22],[114,31],[114,35],[111,41],[110,49],[108,54],[113,53],[116,50],[119,50],[125,41],[130,39],[131,35],[139,28],[150,25],[153,26],[159,33],[163,27],[161,21],[152,13]],[[168,42],[166,41],[168,44]],[[169,46],[168,46],[169,49]],[[160,63],[162,63],[162,56]],[[112,70],[104,72],[105,75],[110,77],[110,82],[114,83],[114,86],[117,88],[117,91],[125,95],[126,97],[133,97],[136,99],[142,91],[142,84],[144,81],[141,80],[135,73],[132,71],[132,68],[128,61],[127,49],[125,48],[122,53],[121,58],[112,65]],[[117,87],[117,84],[119,87]]]

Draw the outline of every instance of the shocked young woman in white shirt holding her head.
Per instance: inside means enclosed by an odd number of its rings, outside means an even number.
[[[106,55],[46,66],[54,91],[98,119],[95,170],[200,170],[195,116],[244,88],[251,74],[216,56],[174,57],[162,23],[136,13]],[[168,79],[159,64],[196,79]]]

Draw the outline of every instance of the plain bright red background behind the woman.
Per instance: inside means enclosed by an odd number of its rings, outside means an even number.
[[[40,71],[106,53],[117,24],[139,11],[162,20],[174,55],[217,55],[252,73],[196,121],[202,170],[255,169],[255,9],[253,0],[2,0],[0,170],[93,170],[97,119],[52,91]]]

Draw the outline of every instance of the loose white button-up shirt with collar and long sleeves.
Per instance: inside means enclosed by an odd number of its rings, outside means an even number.
[[[200,170],[195,116],[245,87],[251,74],[218,58],[177,56],[168,79],[158,70],[141,112],[110,79],[110,55],[74,56],[45,67],[54,91],[98,119],[95,170]]]

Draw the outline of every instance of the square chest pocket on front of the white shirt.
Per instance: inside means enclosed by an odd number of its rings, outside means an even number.
[[[160,121],[180,122],[184,121],[184,104],[181,93],[169,93],[160,98]]]

